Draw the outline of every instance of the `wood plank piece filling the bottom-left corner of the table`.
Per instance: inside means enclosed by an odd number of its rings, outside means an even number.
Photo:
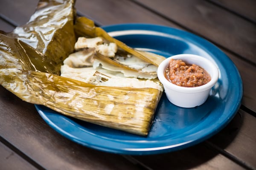
[[[36,170],[28,161],[21,158],[0,142],[0,169],[2,170]]]

